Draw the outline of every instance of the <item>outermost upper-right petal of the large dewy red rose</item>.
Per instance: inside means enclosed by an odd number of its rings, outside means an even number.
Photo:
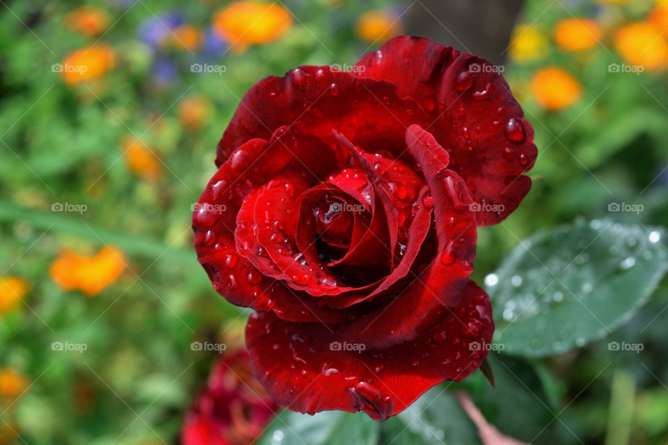
[[[355,70],[358,76],[395,83],[401,97],[412,97],[429,113],[424,128],[452,150],[451,168],[483,209],[479,225],[498,223],[518,207],[531,188],[523,174],[536,159],[534,131],[496,67],[406,36],[388,40],[358,66],[364,68]]]

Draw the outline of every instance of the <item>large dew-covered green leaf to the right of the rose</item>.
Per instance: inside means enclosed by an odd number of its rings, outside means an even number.
[[[662,235],[594,220],[520,243],[488,286],[498,348],[528,357],[565,353],[629,321],[668,268]]]

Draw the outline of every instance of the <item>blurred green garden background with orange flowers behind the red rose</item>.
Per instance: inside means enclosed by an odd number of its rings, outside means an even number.
[[[218,138],[264,76],[346,69],[392,35],[488,58],[536,131],[532,192],[480,229],[478,282],[496,286],[524,238],[578,221],[633,225],[665,250],[667,1],[0,3],[0,444],[180,442],[248,316],[191,247]],[[597,264],[578,252],[569,270]],[[458,388],[523,442],[667,444],[661,275],[608,289],[650,283],[605,336],[496,354],[496,390],[478,372]]]

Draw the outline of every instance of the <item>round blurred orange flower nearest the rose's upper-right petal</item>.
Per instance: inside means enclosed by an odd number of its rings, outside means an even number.
[[[559,67],[538,70],[532,77],[531,90],[536,101],[547,110],[566,108],[582,96],[580,82]]]

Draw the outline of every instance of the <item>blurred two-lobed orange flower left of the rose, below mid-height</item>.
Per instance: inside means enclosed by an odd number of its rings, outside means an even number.
[[[102,248],[93,256],[63,250],[49,267],[49,275],[65,291],[76,289],[92,297],[116,282],[124,269],[125,259],[116,248]]]

